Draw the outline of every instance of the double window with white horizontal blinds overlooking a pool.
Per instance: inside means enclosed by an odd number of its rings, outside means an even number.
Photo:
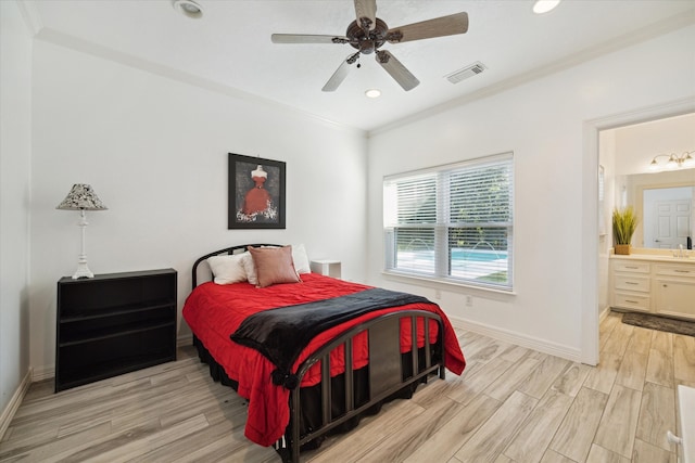
[[[386,271],[513,288],[513,155],[386,177]]]

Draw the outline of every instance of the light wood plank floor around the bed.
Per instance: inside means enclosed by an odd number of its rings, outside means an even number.
[[[592,368],[470,332],[468,366],[420,386],[303,462],[675,463],[678,384],[695,386],[695,337],[601,325]],[[53,394],[31,385],[3,462],[279,462],[243,437],[245,402],[214,383],[192,348],[176,362]]]

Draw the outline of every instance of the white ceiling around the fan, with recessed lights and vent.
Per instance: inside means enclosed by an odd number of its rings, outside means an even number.
[[[532,0],[377,0],[389,27],[465,11],[465,35],[382,47],[419,80],[406,92],[367,55],[332,93],[321,87],[354,49],[274,44],[273,33],[344,36],[351,0],[197,0],[200,20],[170,0],[24,0],[38,38],[156,69],[232,94],[268,100],[363,130],[557,70],[695,24],[695,0],[564,0],[544,15]],[[488,69],[453,85],[475,62]],[[365,90],[378,88],[369,100]]]

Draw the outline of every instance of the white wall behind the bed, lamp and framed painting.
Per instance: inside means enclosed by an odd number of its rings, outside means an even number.
[[[88,213],[90,269],[173,267],[179,309],[194,259],[233,244],[304,243],[365,279],[364,133],[41,40],[34,65],[30,362],[43,376],[55,284],[79,254],[78,214],[55,210],[73,183],[109,207]],[[227,230],[230,152],[287,163],[286,230]]]

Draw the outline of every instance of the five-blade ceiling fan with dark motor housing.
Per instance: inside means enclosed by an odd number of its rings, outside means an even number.
[[[413,23],[406,26],[389,29],[387,23],[377,17],[376,0],[354,0],[357,20],[350,23],[345,37],[301,35],[301,34],[273,34],[273,43],[349,43],[357,49],[351,53],[328,82],[321,89],[331,92],[338,89],[348,77],[351,65],[355,64],[361,54],[375,53],[377,63],[395,79],[405,91],[413,90],[420,81],[399,60],[387,50],[379,50],[386,42],[400,43],[413,40],[430,39],[433,37],[453,36],[465,34],[468,30],[468,14],[456,13],[448,16]],[[359,63],[357,63],[359,67]]]

